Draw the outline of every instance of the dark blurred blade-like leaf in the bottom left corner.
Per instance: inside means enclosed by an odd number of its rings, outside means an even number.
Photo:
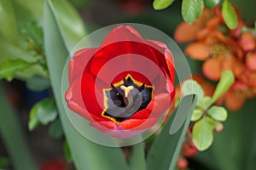
[[[11,165],[16,170],[36,170],[37,166],[21,131],[19,119],[8,102],[2,84],[0,84],[0,94],[0,134],[11,158]]]

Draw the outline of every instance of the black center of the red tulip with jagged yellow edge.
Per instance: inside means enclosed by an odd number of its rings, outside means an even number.
[[[129,119],[132,115],[145,109],[154,95],[153,86],[135,81],[131,75],[123,81],[104,89],[104,106],[102,116],[119,123]]]

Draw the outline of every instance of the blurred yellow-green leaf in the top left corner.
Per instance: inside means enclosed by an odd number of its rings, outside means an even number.
[[[0,35],[10,42],[19,36],[15,11],[9,0],[0,0]]]

